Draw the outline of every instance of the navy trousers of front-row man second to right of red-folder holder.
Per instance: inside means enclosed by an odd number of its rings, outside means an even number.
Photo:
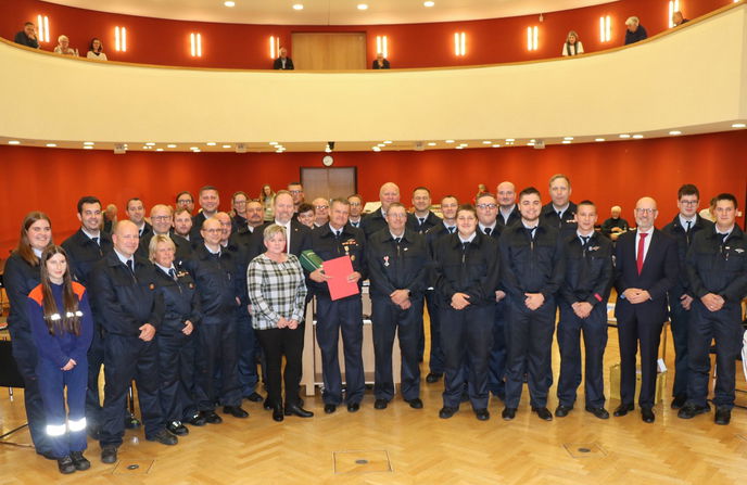
[[[488,359],[493,345],[494,311],[495,305],[469,305],[461,310],[451,306],[440,308],[445,357],[444,406],[459,407],[467,382],[472,408],[488,407]]]

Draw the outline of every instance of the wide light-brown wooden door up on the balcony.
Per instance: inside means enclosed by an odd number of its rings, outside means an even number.
[[[365,69],[366,34],[294,33],[292,58],[296,69]]]

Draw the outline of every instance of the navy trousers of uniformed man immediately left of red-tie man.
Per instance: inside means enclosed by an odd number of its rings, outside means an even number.
[[[586,406],[605,406],[604,356],[607,347],[607,305],[594,305],[586,318],[579,318],[566,302],[560,305],[558,347],[560,349],[560,378],[558,400],[573,407],[577,390],[581,385],[581,333],[584,341],[584,395]]]

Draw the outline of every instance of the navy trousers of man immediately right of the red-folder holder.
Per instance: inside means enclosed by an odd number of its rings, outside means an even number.
[[[403,310],[390,298],[371,298],[374,322],[375,378],[374,395],[377,399],[391,400],[394,397],[392,375],[392,346],[394,334],[400,339],[402,356],[402,397],[406,400],[420,397],[420,366],[418,366],[418,341],[422,329],[422,297],[410,301],[413,305]]]

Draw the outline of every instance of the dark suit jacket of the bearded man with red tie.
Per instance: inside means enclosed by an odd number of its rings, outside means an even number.
[[[679,260],[676,241],[654,229],[651,242],[638,275],[635,263],[635,238],[638,231],[629,231],[618,239],[615,247],[615,288],[618,299],[615,316],[618,320],[638,320],[663,323],[667,320],[667,292],[676,283]],[[648,291],[651,299],[631,304],[622,297],[629,288]]]

